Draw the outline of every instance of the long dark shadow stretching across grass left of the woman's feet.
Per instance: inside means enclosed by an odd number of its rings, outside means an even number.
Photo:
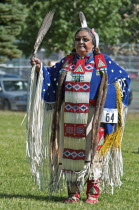
[[[41,200],[41,201],[48,201],[48,202],[64,202],[65,198],[64,197],[58,197],[58,196],[36,196],[36,195],[20,195],[20,194],[13,194],[13,195],[8,195],[8,194],[0,194],[0,199],[2,198],[8,198],[8,199],[13,199],[13,198],[25,198],[25,199],[33,199],[33,200]]]

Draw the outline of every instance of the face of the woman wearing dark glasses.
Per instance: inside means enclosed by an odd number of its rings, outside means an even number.
[[[92,37],[88,31],[79,31],[75,36],[75,49],[76,53],[83,57],[92,52],[94,45],[92,43]]]

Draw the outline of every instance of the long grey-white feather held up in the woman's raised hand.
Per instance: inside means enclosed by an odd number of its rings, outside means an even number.
[[[35,56],[35,54],[38,51],[38,48],[45,36],[45,34],[47,33],[47,31],[49,30],[51,24],[52,24],[52,20],[53,20],[53,16],[54,16],[54,11],[50,11],[49,13],[46,14],[42,25],[39,29],[37,38],[36,38],[36,42],[34,44],[34,48],[33,48],[33,56]]]

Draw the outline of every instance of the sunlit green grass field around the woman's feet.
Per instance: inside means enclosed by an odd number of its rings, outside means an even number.
[[[139,209],[139,113],[127,116],[122,151],[124,176],[114,195],[101,194],[98,204],[89,205],[85,193],[77,204],[64,204],[66,191],[52,198],[40,192],[31,178],[25,152],[25,113],[0,112],[0,209]]]

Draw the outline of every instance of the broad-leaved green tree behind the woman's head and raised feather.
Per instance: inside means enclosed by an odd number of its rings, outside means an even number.
[[[138,23],[138,19],[130,18],[134,13],[133,0],[36,0],[33,3],[31,0],[23,0],[22,2],[30,7],[21,36],[23,42],[20,44],[26,55],[31,54],[42,18],[52,9],[55,10],[54,20],[42,44],[48,53],[59,50],[68,53],[72,50],[74,33],[80,27],[79,11],[85,14],[88,26],[95,28],[100,36],[100,42],[105,44],[128,41],[131,34],[128,27],[133,25],[136,27]],[[126,21],[127,8],[129,21]]]

